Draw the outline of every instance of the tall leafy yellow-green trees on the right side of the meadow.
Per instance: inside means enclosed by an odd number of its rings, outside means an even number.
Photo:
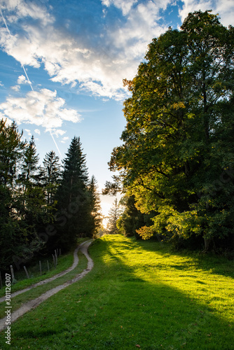
[[[124,102],[104,193],[122,190],[125,235],[233,249],[234,28],[189,13],[149,44]]]

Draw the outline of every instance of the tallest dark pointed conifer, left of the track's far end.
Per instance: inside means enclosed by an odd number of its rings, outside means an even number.
[[[88,169],[80,138],[71,140],[66,158],[63,160],[62,181],[57,190],[58,241],[66,248],[75,243],[77,237],[92,234],[88,230]]]

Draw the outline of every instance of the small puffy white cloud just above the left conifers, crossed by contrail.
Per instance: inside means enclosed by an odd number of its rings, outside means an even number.
[[[81,116],[74,109],[65,108],[65,100],[57,97],[56,91],[41,89],[27,92],[25,97],[8,97],[0,104],[4,118],[11,118],[19,125],[29,123],[46,127],[46,130],[61,127],[64,120],[77,123]]]

